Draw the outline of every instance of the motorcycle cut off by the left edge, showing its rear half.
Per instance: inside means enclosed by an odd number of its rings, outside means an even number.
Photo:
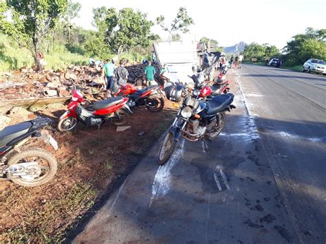
[[[58,168],[56,158],[41,148],[20,147],[32,137],[39,137],[58,150],[56,140],[44,129],[52,122],[36,118],[0,131],[0,179],[21,186],[41,186],[50,181]]]

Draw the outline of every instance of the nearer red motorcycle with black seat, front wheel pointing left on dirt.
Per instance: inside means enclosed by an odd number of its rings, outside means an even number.
[[[128,98],[118,96],[95,102],[86,109],[83,107],[87,103],[83,93],[74,89],[68,110],[59,119],[58,130],[71,131],[78,122],[82,122],[85,126],[97,125],[100,129],[100,125],[107,120],[116,126],[122,126],[127,123],[128,113],[132,113],[127,102]]]

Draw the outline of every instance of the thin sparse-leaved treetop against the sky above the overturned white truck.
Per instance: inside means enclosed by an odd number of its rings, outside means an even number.
[[[170,27],[164,25],[164,20],[164,16],[160,15],[156,18],[156,23],[157,25],[160,25],[160,27],[162,27],[162,30],[169,32],[169,37],[167,38],[167,41],[170,40],[171,36],[173,36],[175,32],[189,32],[189,26],[194,24],[193,18],[188,16],[186,8],[179,8],[177,16],[175,17],[175,19],[173,19]]]

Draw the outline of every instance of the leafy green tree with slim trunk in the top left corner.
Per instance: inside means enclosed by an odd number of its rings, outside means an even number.
[[[67,0],[8,0],[0,2],[0,30],[30,50],[39,71],[43,39],[67,10]]]

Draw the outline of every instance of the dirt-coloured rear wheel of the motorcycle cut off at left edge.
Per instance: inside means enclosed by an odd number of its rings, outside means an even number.
[[[10,177],[10,180],[21,186],[41,186],[50,181],[56,174],[58,164],[51,153],[41,148],[27,148],[8,160],[8,165],[36,162],[26,171],[30,175]]]

